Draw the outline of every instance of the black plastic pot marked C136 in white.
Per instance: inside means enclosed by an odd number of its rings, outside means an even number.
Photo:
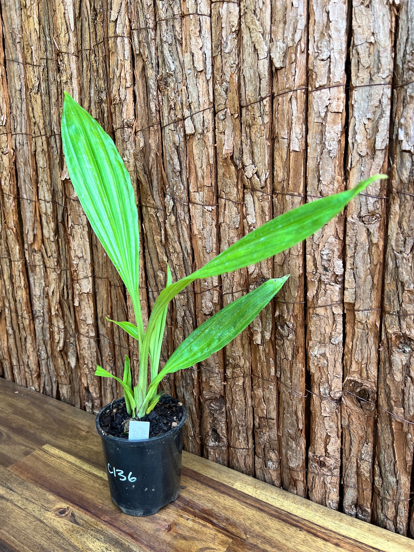
[[[118,399],[117,402],[124,401]],[[171,431],[144,441],[107,435],[99,424],[111,498],[129,516],[150,516],[173,502],[181,486],[181,456],[185,408],[181,422]]]

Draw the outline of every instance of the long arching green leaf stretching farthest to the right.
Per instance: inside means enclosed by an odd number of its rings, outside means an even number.
[[[204,267],[162,290],[153,305],[145,339],[151,339],[155,323],[169,301],[196,278],[209,278],[232,272],[289,249],[321,229],[328,220],[341,213],[348,201],[379,178],[388,177],[377,174],[360,182],[351,190],[310,201],[269,220],[233,243]],[[144,348],[146,347],[144,344]]]

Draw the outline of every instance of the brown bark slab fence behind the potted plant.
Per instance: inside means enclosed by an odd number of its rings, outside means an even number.
[[[167,388],[185,448],[414,537],[414,0],[0,0],[0,375],[88,411],[137,351],[125,288],[68,180],[63,91],[136,190],[145,316],[164,286],[279,213],[378,181],[306,243],[197,281],[189,332],[290,273]],[[3,413],[7,416],[7,413]]]

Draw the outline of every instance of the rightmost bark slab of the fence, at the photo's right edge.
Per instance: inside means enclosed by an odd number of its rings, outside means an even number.
[[[397,84],[414,79],[413,22],[414,4],[405,0],[400,6],[395,51]],[[414,437],[413,121],[414,84],[411,82],[396,87],[393,95],[391,190],[374,466],[374,520],[400,534],[407,531]]]

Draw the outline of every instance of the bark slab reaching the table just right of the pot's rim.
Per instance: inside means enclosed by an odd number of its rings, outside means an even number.
[[[187,142],[185,140],[183,87],[183,28],[181,3],[157,0],[157,56],[160,119],[163,145],[163,185],[168,262],[173,281],[193,272],[193,248],[187,182]],[[187,113],[188,114],[188,113]],[[189,124],[190,119],[187,119]],[[195,297],[185,288],[173,301],[174,347],[194,330]],[[188,422],[184,446],[200,454],[199,373],[196,367],[178,371],[177,395],[187,408]]]

